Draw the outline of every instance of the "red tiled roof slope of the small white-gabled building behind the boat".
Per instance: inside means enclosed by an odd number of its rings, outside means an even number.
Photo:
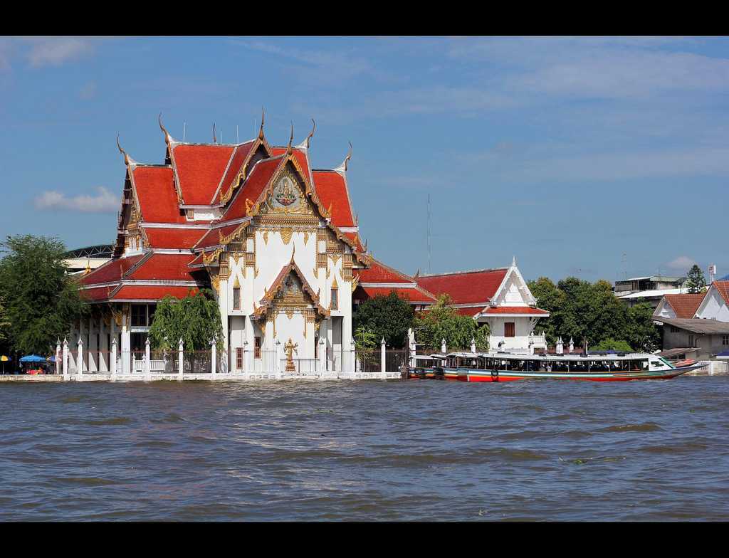
[[[508,269],[424,275],[416,278],[418,285],[439,295],[448,293],[453,304],[488,302],[496,294]]]

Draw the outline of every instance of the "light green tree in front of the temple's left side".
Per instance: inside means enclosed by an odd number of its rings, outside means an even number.
[[[206,350],[213,339],[219,347],[222,336],[220,308],[209,288],[190,290],[180,300],[165,296],[149,328],[149,343],[159,350],[177,350],[180,338],[185,351]]]

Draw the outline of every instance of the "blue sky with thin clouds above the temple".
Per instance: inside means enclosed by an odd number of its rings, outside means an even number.
[[[729,270],[729,39],[0,39],[0,235],[114,239],[131,157],[286,144],[348,182],[378,259],[614,281]]]

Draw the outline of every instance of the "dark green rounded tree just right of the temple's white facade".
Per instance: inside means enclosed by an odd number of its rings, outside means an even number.
[[[374,296],[359,304],[352,315],[352,326],[355,331],[364,327],[375,334],[376,341],[384,337],[388,347],[400,349],[405,347],[405,337],[414,318],[410,302],[390,291],[387,296]]]

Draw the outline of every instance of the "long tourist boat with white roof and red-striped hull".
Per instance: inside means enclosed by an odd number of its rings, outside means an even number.
[[[705,366],[684,361],[681,366],[648,353],[588,355],[518,355],[514,353],[448,353],[446,378],[461,382],[510,382],[529,378],[553,380],[667,380]]]

